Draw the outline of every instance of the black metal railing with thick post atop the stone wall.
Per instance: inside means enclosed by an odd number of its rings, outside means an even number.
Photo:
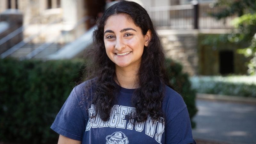
[[[186,4],[151,7],[149,15],[160,29],[230,29],[236,17],[217,20],[210,13],[220,12],[223,8],[209,7],[208,4]]]

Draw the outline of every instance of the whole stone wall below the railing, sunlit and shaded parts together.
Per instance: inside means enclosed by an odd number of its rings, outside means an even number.
[[[237,53],[237,49],[246,47],[246,44],[238,45],[228,42],[215,45],[202,44],[206,36],[218,36],[220,33],[228,33],[228,30],[158,30],[166,57],[179,62],[183,66],[183,71],[190,76],[221,75],[221,63],[229,61],[229,58],[220,61],[220,53],[223,51],[233,54],[233,60],[231,60],[233,62],[230,63],[233,67],[231,74],[246,74],[245,63],[249,58]]]

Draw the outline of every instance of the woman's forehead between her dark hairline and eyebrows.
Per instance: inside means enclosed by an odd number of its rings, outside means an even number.
[[[115,14],[108,17],[105,22],[104,31],[106,29],[123,29],[123,28],[139,28],[136,26],[132,18],[127,14]]]

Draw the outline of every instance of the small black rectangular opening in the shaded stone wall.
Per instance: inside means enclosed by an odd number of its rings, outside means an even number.
[[[220,74],[234,73],[234,53],[232,51],[220,51]]]

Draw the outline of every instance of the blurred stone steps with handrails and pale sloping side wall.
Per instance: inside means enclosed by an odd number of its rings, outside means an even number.
[[[1,58],[13,57],[20,60],[23,59],[72,59],[75,57],[83,57],[84,50],[92,46],[92,32],[96,27],[89,28],[81,36],[76,37],[70,42],[63,42],[62,35],[53,37],[49,42],[32,43],[31,39],[26,38],[20,43],[14,45],[6,52],[1,54]],[[69,35],[68,35],[69,36]],[[67,36],[67,37],[68,37]],[[58,42],[61,41],[61,43]]]

